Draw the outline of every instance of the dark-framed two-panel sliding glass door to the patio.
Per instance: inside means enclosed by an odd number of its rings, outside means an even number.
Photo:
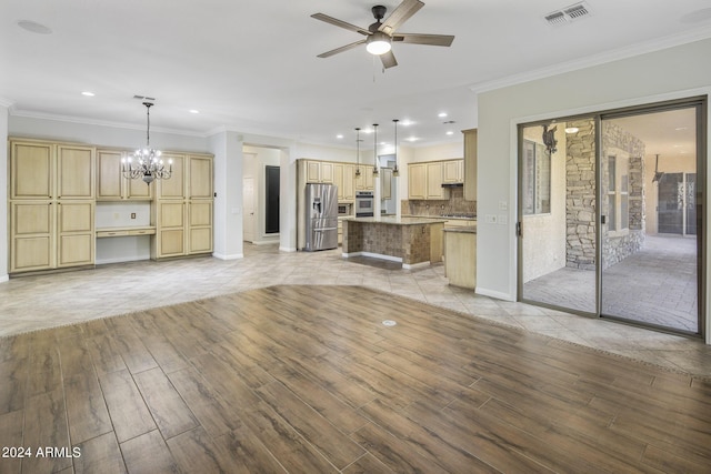
[[[519,300],[701,335],[704,108],[519,128]]]

